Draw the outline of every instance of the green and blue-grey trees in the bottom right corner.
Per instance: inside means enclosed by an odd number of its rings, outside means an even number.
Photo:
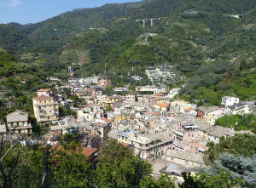
[[[207,174],[219,174],[222,170],[230,170],[231,177],[243,179],[247,187],[256,186],[256,136],[236,134],[233,137],[210,142],[205,152],[209,167],[201,169]]]

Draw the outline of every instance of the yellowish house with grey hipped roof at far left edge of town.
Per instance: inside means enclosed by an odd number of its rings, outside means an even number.
[[[32,125],[28,122],[28,114],[23,111],[15,111],[6,116],[9,134],[32,135]]]

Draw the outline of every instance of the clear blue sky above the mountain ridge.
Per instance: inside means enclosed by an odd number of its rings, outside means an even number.
[[[139,0],[0,0],[0,23],[36,23],[73,9],[137,1]]]

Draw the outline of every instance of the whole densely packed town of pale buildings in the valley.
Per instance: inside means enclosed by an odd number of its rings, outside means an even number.
[[[83,135],[84,155],[97,157],[103,140],[115,140],[129,147],[153,166],[153,175],[171,174],[182,181],[182,172],[194,172],[204,166],[207,142],[235,134],[253,134],[216,125],[220,117],[253,112],[253,102],[225,96],[220,106],[197,106],[178,98],[182,88],[165,85],[137,86],[125,94],[104,94],[111,85],[108,77],[85,77],[60,80],[49,78],[51,86],[40,88],[32,99],[33,113],[39,126],[48,125],[43,135],[51,145],[63,134],[74,131]],[[121,88],[119,88],[121,89]],[[124,88],[113,91],[124,91]],[[142,92],[151,92],[142,94]],[[70,95],[80,103],[74,105]],[[61,106],[69,107],[73,116],[61,115]],[[2,135],[32,139],[32,121],[26,111],[14,111],[2,123]]]

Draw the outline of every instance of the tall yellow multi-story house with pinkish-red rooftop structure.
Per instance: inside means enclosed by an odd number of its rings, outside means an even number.
[[[58,118],[59,107],[58,103],[52,94],[45,95],[39,92],[38,97],[33,98],[33,111],[37,122],[50,122]]]

